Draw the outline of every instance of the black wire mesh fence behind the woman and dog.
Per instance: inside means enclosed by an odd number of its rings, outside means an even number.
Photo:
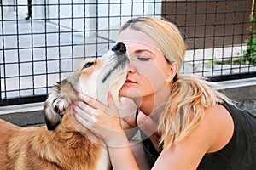
[[[55,82],[85,58],[104,54],[119,26],[137,16],[179,27],[188,47],[183,72],[212,81],[255,77],[253,2],[2,0],[0,105],[44,101]]]

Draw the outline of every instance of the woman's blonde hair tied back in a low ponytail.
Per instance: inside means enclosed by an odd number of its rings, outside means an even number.
[[[183,65],[185,45],[177,26],[167,20],[138,17],[128,20],[119,33],[130,28],[143,31],[151,37],[169,63],[176,62],[178,70]],[[212,89],[212,82],[201,77],[183,75],[177,71],[171,86],[166,110],[160,115],[160,144],[168,149],[195,131],[203,119],[204,110],[216,105],[218,97],[230,103],[224,94]]]

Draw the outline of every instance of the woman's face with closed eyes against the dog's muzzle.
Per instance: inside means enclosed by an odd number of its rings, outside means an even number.
[[[125,43],[130,56],[127,78],[119,92],[121,96],[145,98],[169,90],[169,82],[173,78],[172,65],[151,37],[142,31],[126,29],[119,34],[118,42]]]

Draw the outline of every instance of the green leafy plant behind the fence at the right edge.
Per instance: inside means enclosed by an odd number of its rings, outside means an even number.
[[[253,26],[255,25],[253,15],[249,17],[249,21],[250,26],[248,26],[247,31],[250,32],[250,35],[245,40],[247,43],[247,49],[242,51],[241,62],[256,65],[256,30],[253,29]]]

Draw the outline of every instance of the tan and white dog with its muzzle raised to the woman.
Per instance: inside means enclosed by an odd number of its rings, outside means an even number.
[[[70,77],[55,84],[44,103],[46,125],[17,127],[0,120],[0,169],[109,169],[102,139],[73,116],[77,93],[107,104],[108,92],[118,105],[129,57],[119,42],[100,58],[85,59]]]

